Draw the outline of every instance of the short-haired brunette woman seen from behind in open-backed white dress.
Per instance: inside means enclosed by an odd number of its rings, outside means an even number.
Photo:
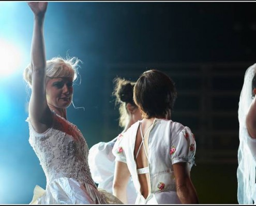
[[[190,178],[195,139],[189,127],[171,120],[176,89],[158,70],[144,72],[134,86],[133,99],[143,119],[118,138],[113,194],[127,202],[131,175],[138,196],[135,204],[198,204]]]

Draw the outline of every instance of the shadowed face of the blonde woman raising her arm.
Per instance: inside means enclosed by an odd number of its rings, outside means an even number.
[[[46,84],[47,103],[56,108],[67,108],[73,98],[73,78],[49,79]]]

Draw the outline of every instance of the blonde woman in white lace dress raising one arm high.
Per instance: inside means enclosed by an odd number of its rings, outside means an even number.
[[[24,79],[32,89],[28,108],[29,143],[46,175],[46,190],[36,185],[30,204],[121,204],[92,179],[86,141],[67,120],[73,81],[80,62],[76,57],[46,61],[43,24],[47,2],[28,2],[34,13],[31,63]]]

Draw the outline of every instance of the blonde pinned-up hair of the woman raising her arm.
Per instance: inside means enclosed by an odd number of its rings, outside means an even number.
[[[82,62],[77,57],[54,57],[46,62],[46,76],[48,78],[72,77],[73,81],[78,77],[79,63]],[[23,78],[32,87],[32,67],[28,64],[23,72]]]

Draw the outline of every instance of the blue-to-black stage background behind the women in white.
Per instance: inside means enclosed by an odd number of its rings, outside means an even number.
[[[89,148],[112,140],[122,131],[111,96],[113,78],[135,81],[146,70],[161,70],[177,87],[173,121],[190,127],[197,140],[191,178],[200,203],[237,204],[237,110],[244,73],[256,59],[255,7],[255,2],[50,2],[47,58],[68,54],[83,61],[73,102],[85,109],[71,105],[69,121]],[[23,49],[16,73],[0,77],[0,204],[27,204],[35,185],[46,185],[25,122],[29,92],[22,72],[29,63],[33,14],[25,2],[0,3],[0,25],[0,38]],[[8,67],[0,64],[4,70]]]

